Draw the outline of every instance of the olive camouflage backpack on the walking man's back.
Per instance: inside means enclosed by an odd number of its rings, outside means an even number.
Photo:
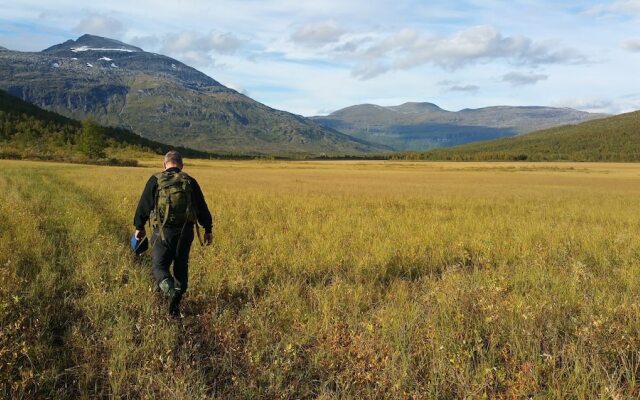
[[[165,225],[184,227],[186,224],[195,223],[196,215],[191,202],[191,177],[182,171],[163,171],[155,174],[155,177],[158,187],[153,213],[161,236],[164,236]]]

